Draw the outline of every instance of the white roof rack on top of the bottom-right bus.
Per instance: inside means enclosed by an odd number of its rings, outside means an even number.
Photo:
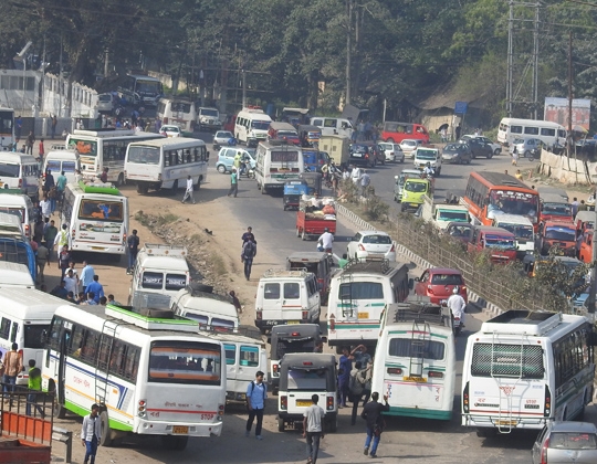
[[[562,313],[510,309],[481,325],[484,334],[542,336],[562,324]]]

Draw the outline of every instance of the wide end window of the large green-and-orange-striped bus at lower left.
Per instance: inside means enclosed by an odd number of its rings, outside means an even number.
[[[154,341],[149,352],[149,381],[219,386],[220,346],[198,341]]]

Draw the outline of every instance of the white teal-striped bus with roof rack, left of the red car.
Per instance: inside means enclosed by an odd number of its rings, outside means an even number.
[[[408,297],[408,267],[384,261],[350,261],[332,277],[327,300],[327,342],[375,347],[386,305]]]

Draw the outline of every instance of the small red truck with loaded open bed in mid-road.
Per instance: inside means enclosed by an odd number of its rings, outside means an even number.
[[[329,233],[336,233],[336,209],[333,198],[301,199],[296,212],[296,236],[307,240],[311,236],[320,236],[327,229]]]

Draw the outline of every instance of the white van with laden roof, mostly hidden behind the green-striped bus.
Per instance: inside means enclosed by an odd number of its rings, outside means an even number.
[[[177,316],[198,320],[200,326],[234,329],[239,326],[237,308],[228,295],[213,293],[213,287],[192,285],[171,297],[170,308]]]

